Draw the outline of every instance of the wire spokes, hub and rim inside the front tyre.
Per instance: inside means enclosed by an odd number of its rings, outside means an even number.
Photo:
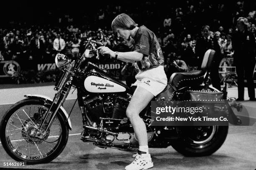
[[[51,127],[41,139],[36,136],[32,137],[37,135],[37,125],[42,124],[47,110],[49,108],[43,105],[25,105],[16,110],[9,118],[5,136],[8,139],[8,147],[16,155],[27,160],[39,160],[47,157],[59,146],[62,128],[58,117],[54,117]],[[38,115],[38,118],[35,117],[35,114]],[[43,125],[44,128],[45,126]]]

